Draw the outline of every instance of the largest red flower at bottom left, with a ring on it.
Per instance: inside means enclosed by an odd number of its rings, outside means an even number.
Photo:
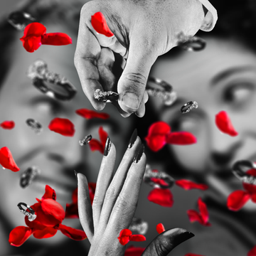
[[[31,208],[35,211],[36,219],[28,220],[25,216],[25,223],[28,227],[18,226],[11,230],[9,235],[10,245],[16,247],[23,245],[31,235],[35,238],[51,238],[58,230],[73,240],[84,240],[87,238],[85,232],[75,228],[67,227],[62,222],[65,218],[65,210],[56,202],[56,193],[53,188],[46,185],[46,193],[40,199],[36,198],[38,203],[34,203]]]

